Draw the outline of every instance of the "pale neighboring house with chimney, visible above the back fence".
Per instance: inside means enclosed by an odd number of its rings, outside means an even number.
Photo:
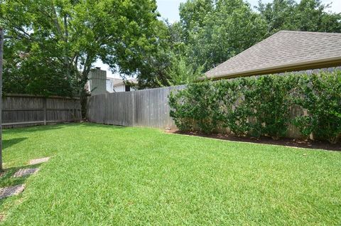
[[[90,71],[89,82],[87,82],[87,89],[91,95],[101,95],[111,92],[129,92],[134,88],[129,84],[136,84],[135,79],[124,81],[120,78],[107,77],[107,72],[100,68],[94,68]]]

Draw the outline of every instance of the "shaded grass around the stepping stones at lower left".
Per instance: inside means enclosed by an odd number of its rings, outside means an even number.
[[[15,186],[15,185],[21,185],[26,182],[26,180],[32,176],[27,175],[27,176],[21,176],[21,177],[13,177],[14,173],[18,171],[19,169],[23,168],[39,168],[39,166],[42,163],[36,164],[36,165],[28,165],[28,166],[18,166],[18,167],[11,167],[11,168],[5,168],[4,171],[0,173],[0,188],[5,188],[9,186]],[[9,197],[8,197],[9,198]],[[4,204],[7,198],[2,198],[0,199],[0,208]]]

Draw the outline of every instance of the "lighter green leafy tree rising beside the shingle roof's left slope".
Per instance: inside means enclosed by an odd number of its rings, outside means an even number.
[[[190,15],[190,16],[188,16]],[[190,63],[210,70],[261,41],[266,21],[242,0],[188,0],[180,6]]]

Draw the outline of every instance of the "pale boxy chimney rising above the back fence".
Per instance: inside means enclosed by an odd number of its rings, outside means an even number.
[[[107,71],[101,68],[90,70],[89,85],[92,96],[107,93]]]

